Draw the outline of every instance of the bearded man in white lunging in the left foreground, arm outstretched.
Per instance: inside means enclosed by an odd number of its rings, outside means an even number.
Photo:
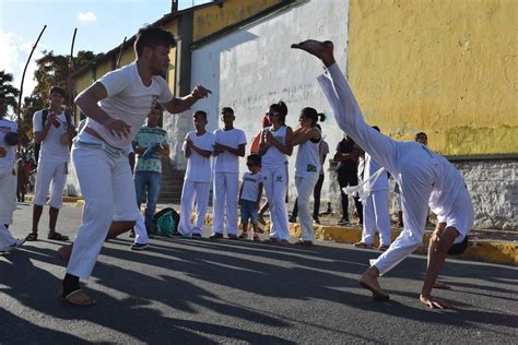
[[[170,93],[161,75],[168,68],[175,45],[173,34],[163,28],[141,28],[134,41],[137,60],[105,74],[75,98],[89,119],[72,148],[85,203],[60,292],[69,304],[96,302],[80,288],[79,279],[90,277],[107,236],[134,226],[138,209],[126,148],[148,114],[156,103],[169,112],[183,112],[208,96],[202,86],[183,98]]]

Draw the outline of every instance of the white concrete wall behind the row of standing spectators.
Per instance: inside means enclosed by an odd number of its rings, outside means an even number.
[[[286,103],[286,123],[293,128],[297,126],[301,109],[314,107],[328,116],[322,129],[333,151],[342,133],[316,81],[322,66],[290,46],[307,38],[333,40],[337,60],[345,71],[348,19],[348,0],[302,2],[196,49],[191,86],[202,84],[213,94],[192,110],[208,111],[208,128],[214,130],[221,124],[220,109],[234,108],[235,127],[243,129],[250,140],[261,129],[261,119],[270,104],[279,99]],[[292,176],[295,156],[296,150],[290,159]],[[245,159],[240,167],[242,171],[246,169]],[[295,189],[293,179],[291,189]],[[329,198],[328,187],[322,192],[323,199]]]

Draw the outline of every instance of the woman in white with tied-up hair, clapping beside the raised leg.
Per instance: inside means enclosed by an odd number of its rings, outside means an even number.
[[[317,121],[326,119],[323,114],[317,114],[314,108],[304,108],[301,111],[298,122],[301,124],[293,132],[292,145],[298,145],[297,159],[295,162],[295,186],[297,188],[297,204],[301,212],[302,239],[296,245],[313,246],[315,230],[313,228],[311,214],[309,212],[309,197],[320,175],[321,140]]]

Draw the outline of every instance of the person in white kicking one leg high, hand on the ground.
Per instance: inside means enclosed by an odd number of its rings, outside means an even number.
[[[446,158],[416,142],[395,141],[365,123],[354,95],[338,67],[331,41],[306,40],[292,45],[320,59],[325,74],[318,76],[334,118],[349,135],[401,187],[404,228],[390,248],[363,274],[360,284],[373,298],[387,300],[378,277],[386,274],[421,246],[428,204],[437,215],[437,227],[428,246],[428,265],[420,300],[431,308],[448,304],[432,297],[432,289],[448,253],[458,254],[468,246],[466,236],[473,226],[473,205],[460,172]]]

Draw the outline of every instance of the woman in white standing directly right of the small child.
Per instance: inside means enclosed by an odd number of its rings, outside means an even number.
[[[287,157],[292,154],[293,131],[285,124],[287,107],[280,100],[267,112],[272,126],[262,131],[259,155],[262,156],[262,185],[270,204],[271,242],[287,245],[290,229],[284,202],[287,181]]]

